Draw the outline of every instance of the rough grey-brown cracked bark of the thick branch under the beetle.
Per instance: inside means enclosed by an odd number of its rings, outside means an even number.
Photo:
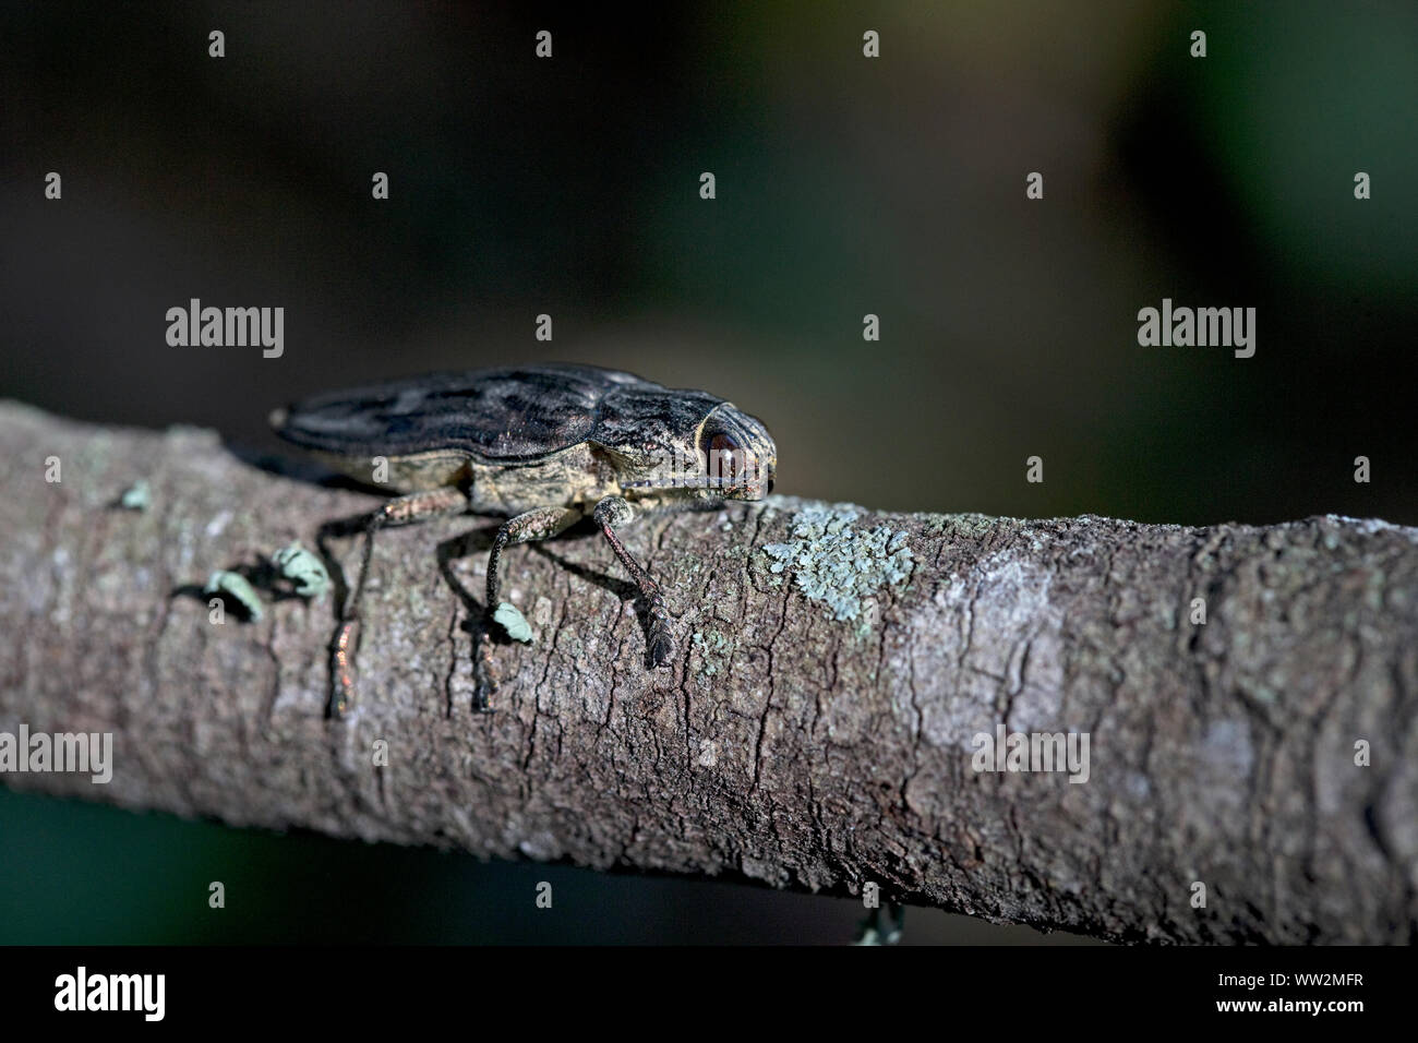
[[[152,507],[116,508],[138,478]],[[214,624],[200,586],[377,502],[211,433],[0,404],[0,731],[115,734],[108,785],[3,780],[479,856],[873,881],[1112,939],[1414,938],[1415,529],[735,504],[624,534],[676,617],[658,671],[610,548],[573,531],[505,556],[536,640],[492,644],[501,708],[476,715],[469,620],[496,519],[452,518],[376,541],[357,704],[330,721],[333,599],[265,590],[261,622]],[[804,517],[837,531],[774,572],[764,548]],[[881,526],[910,549],[905,580],[869,553]],[[855,582],[879,586],[838,620],[841,578],[811,580],[854,546]],[[359,539],[332,548],[357,568]],[[1088,780],[974,771],[1001,724],[1086,732]]]

